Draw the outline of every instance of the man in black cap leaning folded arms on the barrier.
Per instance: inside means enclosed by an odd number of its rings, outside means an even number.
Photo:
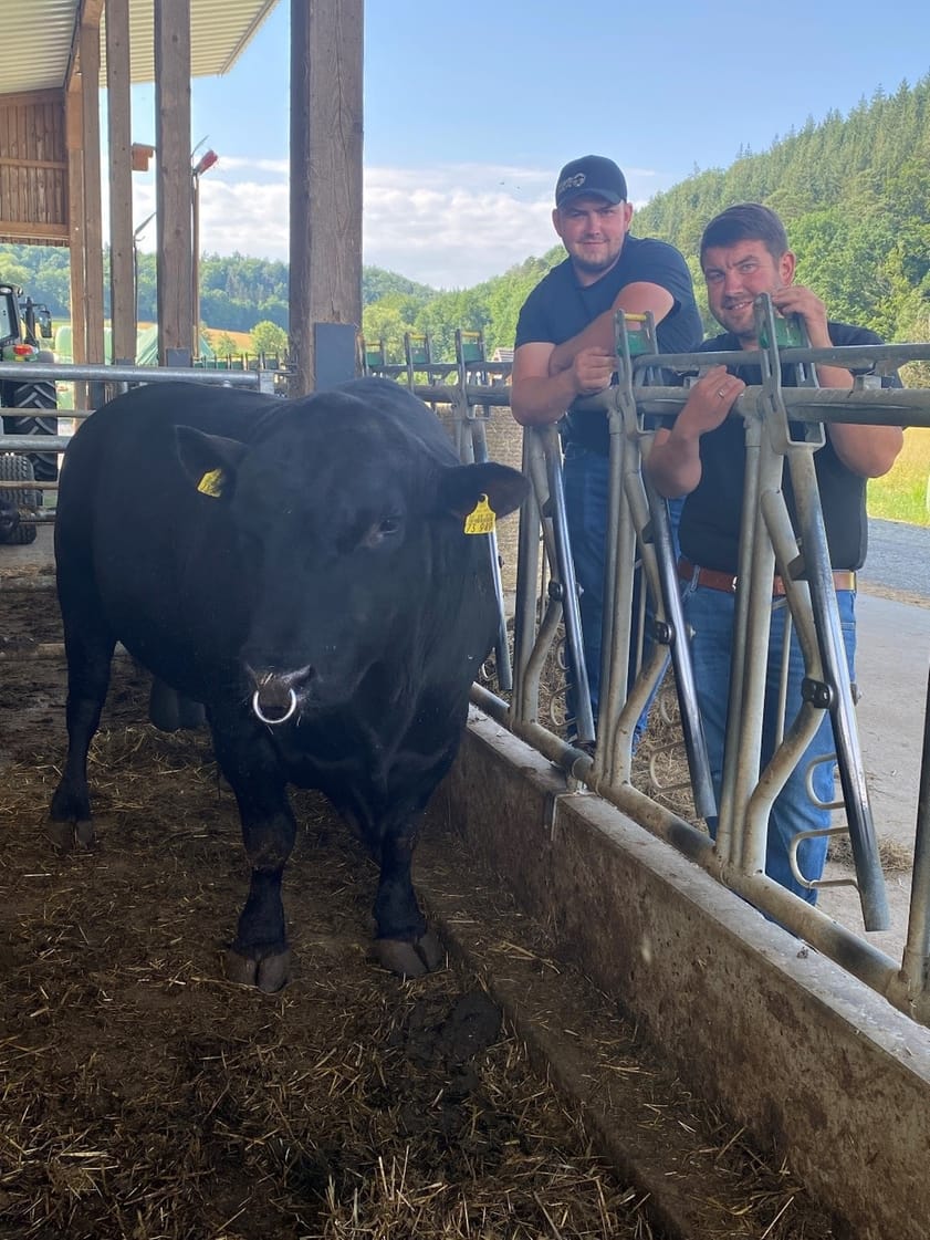
[[[684,259],[666,242],[631,237],[631,218],[626,179],[613,160],[584,155],[562,169],[552,222],[568,258],[523,304],[513,353],[511,408],[517,422],[538,427],[564,415],[565,506],[595,719],[609,435],[604,413],[573,404],[610,386],[618,310],[651,310],[658,348],[666,353],[691,352],[703,335]]]

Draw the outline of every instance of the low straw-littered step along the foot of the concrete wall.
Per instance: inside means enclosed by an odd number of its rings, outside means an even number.
[[[539,1075],[631,1187],[635,1208],[668,1240],[750,1236],[742,1178],[718,1161],[719,1130],[696,1115],[682,1081],[642,1047],[616,1003],[580,971],[547,956],[531,919],[476,872],[465,842],[450,838],[438,817],[430,815],[415,862],[432,925],[450,956],[479,975]]]

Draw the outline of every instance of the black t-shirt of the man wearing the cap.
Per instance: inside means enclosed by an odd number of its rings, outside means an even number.
[[[663,353],[693,352],[703,330],[694,303],[688,264],[675,248],[651,237],[627,233],[620,258],[605,275],[585,286],[578,283],[570,258],[536,285],[523,303],[517,321],[516,347],[528,343],[563,345],[610,310],[627,284],[657,284],[671,293],[675,305],[656,325],[656,343]],[[609,449],[606,418],[601,412],[573,409],[559,424],[565,443],[594,451]]]

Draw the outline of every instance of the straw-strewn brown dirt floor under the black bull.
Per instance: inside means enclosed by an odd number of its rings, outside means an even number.
[[[57,856],[63,666],[27,644],[60,636],[48,591],[0,594],[4,1240],[675,1234],[531,1063],[484,975],[459,959],[401,982],[368,960],[374,868],[312,794],[295,795],[285,879],[293,981],[269,997],[223,980],[247,890],[234,801],[203,734],[141,722],[148,680],[125,660],[92,755],[97,847]],[[544,960],[542,930],[526,946],[498,903],[487,937]],[[691,1234],[841,1235],[786,1163],[611,1021],[608,1068],[641,1091],[657,1174],[683,1136],[724,1203],[727,1221]]]

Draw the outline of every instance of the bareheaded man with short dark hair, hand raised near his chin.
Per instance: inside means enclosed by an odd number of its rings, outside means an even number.
[[[771,296],[775,310],[800,316],[813,348],[835,345],[880,343],[862,327],[832,322],[823,303],[807,288],[795,284],[795,255],[789,249],[785,228],[774,211],[759,203],[742,203],[723,211],[704,229],[701,268],[707,283],[711,311],[727,331],[706,341],[704,351],[729,352],[759,348],[753,303],[761,293]],[[647,471],[657,490],[668,497],[686,496],[678,536],[682,558],[680,575],[687,583],[684,616],[693,631],[692,660],[698,702],[704,720],[708,755],[719,796],[723,748],[727,728],[730,646],[735,608],[734,582],[738,572],[739,528],[743,511],[745,432],[742,419],[728,418],[746,384],[760,383],[759,367],[713,366],[691,391],[675,425],[656,432]],[[849,388],[853,374],[841,366],[817,366],[821,387]],[[782,384],[794,386],[790,367]],[[897,376],[883,379],[899,387]],[[795,428],[797,438],[801,429]],[[853,676],[856,651],[856,570],[866,558],[866,479],[885,474],[901,449],[899,427],[827,423],[826,444],[813,454],[826,526],[831,565],[842,621],[843,640]],[[785,471],[784,494],[795,522],[791,480]],[[773,583],[771,635],[765,696],[761,761],[774,750],[777,723],[779,670],[785,631],[784,585]],[[797,637],[791,637],[786,719],[801,707],[804,660]],[[775,801],[769,820],[765,872],[782,887],[815,904],[811,890],[795,879],[789,862],[790,844],[799,831],[822,831],[830,812],[815,805],[805,786],[806,771],[818,761],[812,786],[820,802],[833,800],[833,733],[827,712],[804,758]],[[712,832],[715,822],[711,823]],[[797,849],[801,873],[820,879],[827,853],[827,837],[805,839]]]

